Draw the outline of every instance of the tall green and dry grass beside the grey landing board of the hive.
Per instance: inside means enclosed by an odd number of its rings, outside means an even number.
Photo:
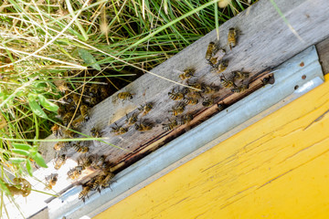
[[[59,122],[63,81],[79,93],[74,83],[106,78],[115,92],[255,1],[0,3],[1,197],[13,178],[33,174],[33,163],[47,166],[37,149]]]

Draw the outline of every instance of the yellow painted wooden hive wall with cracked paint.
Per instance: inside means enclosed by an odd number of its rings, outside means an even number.
[[[329,218],[326,110],[329,82],[95,218]]]

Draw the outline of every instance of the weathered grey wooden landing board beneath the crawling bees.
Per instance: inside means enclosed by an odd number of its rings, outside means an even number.
[[[281,16],[269,1],[259,1],[257,4],[252,5],[249,10],[230,19],[219,28],[220,40],[217,42],[218,47],[225,47],[228,51],[226,58],[228,58],[229,64],[228,69],[224,72],[226,77],[229,77],[231,71],[241,69],[255,76],[266,68],[280,65],[306,47],[316,44],[329,36],[328,1],[277,0],[275,2],[303,41],[292,34],[292,31],[283,22]],[[239,29],[240,35],[238,46],[230,51],[227,46],[227,36],[228,28],[232,26]],[[173,71],[174,69],[196,68],[195,78],[198,81],[219,85],[219,75],[209,72],[210,66],[205,59],[207,44],[210,41],[216,41],[216,39],[216,31],[214,30],[152,71],[178,81],[178,74]],[[260,83],[260,78],[253,81],[250,90],[260,87]],[[90,147],[90,153],[107,155],[108,160],[116,165],[113,170],[121,170],[145,154],[161,147],[166,141],[170,141],[178,134],[188,130],[188,127],[182,127],[177,130],[176,134],[169,136],[166,136],[167,133],[162,130],[161,124],[167,122],[166,117],[169,117],[168,110],[171,110],[172,106],[176,104],[175,101],[168,99],[167,95],[173,88],[178,87],[163,79],[146,74],[121,90],[121,92],[129,91],[135,94],[131,101],[122,102],[116,98],[116,95],[113,95],[90,110],[90,121],[81,131],[89,134],[90,129],[96,126],[101,129],[102,137],[107,138],[105,141],[124,149],[120,150],[109,145],[90,141],[86,142],[86,145]],[[234,100],[231,99],[239,99],[243,95],[245,94],[232,95],[229,89],[220,89],[215,97],[218,101],[233,103]],[[111,133],[111,126],[113,126],[114,121],[118,125],[123,125],[125,123],[125,114],[137,112],[137,108],[145,102],[154,103],[154,110],[142,118],[142,120],[146,119],[154,123],[153,130],[139,132],[131,128],[122,136],[115,136]],[[216,113],[216,110],[214,107],[205,110],[201,103],[198,103],[193,107],[187,106],[185,111],[185,113],[192,114],[200,114],[201,112],[211,115]],[[197,118],[192,124],[196,125],[201,120],[206,119],[207,116]],[[47,159],[49,161],[54,157],[51,150],[48,150],[52,148],[52,144],[45,145],[44,148],[46,149],[44,154],[49,154]],[[69,150],[67,154],[73,160],[80,156],[79,153],[73,150]]]

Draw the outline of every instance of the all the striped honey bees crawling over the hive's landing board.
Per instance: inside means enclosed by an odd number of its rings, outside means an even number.
[[[237,45],[238,31],[235,28],[229,28],[228,30],[228,46],[230,49]],[[232,71],[229,75],[225,76],[224,71],[228,68],[228,59],[225,58],[226,51],[218,46],[214,42],[210,42],[207,46],[206,60],[211,66],[210,72],[220,74],[219,81],[220,85],[207,84],[205,82],[199,82],[197,79],[192,81],[195,77],[195,68],[186,68],[184,71],[175,70],[178,73],[178,78],[186,83],[186,87],[183,89],[171,89],[168,92],[168,98],[174,100],[176,103],[168,110],[169,114],[174,119],[167,118],[168,122],[162,124],[164,131],[174,130],[176,127],[185,125],[194,119],[192,114],[184,114],[187,106],[196,105],[202,102],[202,106],[205,108],[212,107],[217,101],[215,101],[215,95],[220,89],[230,89],[233,93],[239,93],[249,89],[249,72],[243,71]],[[266,78],[265,78],[266,79]],[[264,80],[265,80],[264,79]],[[268,83],[269,81],[263,81]],[[66,91],[66,90],[65,90]],[[97,97],[101,96],[105,99],[107,91],[104,86],[97,84],[91,85],[87,89],[80,89],[80,95],[72,94],[66,96],[66,105],[58,110],[58,115],[63,121],[63,126],[68,127],[69,124],[73,129],[79,129],[79,127],[89,120],[89,108],[98,103]],[[104,97],[104,95],[106,97]],[[133,99],[133,93],[120,92],[117,95],[117,99],[131,100]],[[226,108],[224,103],[217,103],[218,110],[224,110]],[[64,109],[64,110],[63,110]],[[142,117],[148,114],[154,109],[154,103],[147,102],[138,108],[138,111],[126,114],[125,123],[118,125],[114,122],[111,126],[111,133],[113,135],[122,135],[128,132],[129,129],[134,127],[134,130],[146,131],[152,130],[154,124],[149,120],[145,120]],[[74,120],[73,115],[77,115]],[[74,131],[64,129],[63,126],[54,125],[52,131],[54,136],[61,138],[74,138],[76,134]],[[101,137],[101,131],[95,127],[90,130],[90,136],[94,138]],[[88,193],[93,190],[98,190],[101,193],[102,188],[110,186],[111,180],[114,177],[111,172],[110,163],[106,162],[104,156],[89,155],[87,146],[81,145],[79,142],[72,141],[59,141],[55,146],[54,150],[58,151],[55,159],[55,169],[58,170],[67,160],[66,154],[59,155],[59,151],[65,151],[67,148],[72,148],[74,151],[84,154],[78,159],[78,165],[68,172],[68,178],[76,180],[80,177],[81,173],[87,168],[98,171],[99,174],[90,179],[88,183],[82,184],[82,191],[79,198],[85,201],[88,197]],[[58,174],[52,173],[46,178],[47,189],[51,189],[58,180]]]

